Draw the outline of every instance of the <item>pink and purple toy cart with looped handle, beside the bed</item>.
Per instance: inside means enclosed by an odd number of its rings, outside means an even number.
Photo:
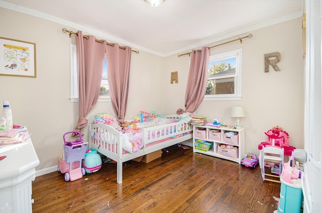
[[[79,139],[68,142],[65,136],[69,133],[79,135]],[[62,156],[58,159],[58,171],[64,175],[65,181],[73,181],[82,178],[86,171],[82,168],[82,160],[85,158],[85,152],[88,143],[84,143],[81,133],[77,131],[67,132],[63,135],[64,139],[64,159]]]

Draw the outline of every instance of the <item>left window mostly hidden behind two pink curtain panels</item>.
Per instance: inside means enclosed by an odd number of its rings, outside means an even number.
[[[78,79],[77,79],[77,55],[76,45],[70,45],[70,102],[78,102]],[[98,101],[110,101],[109,83],[107,80],[107,61],[104,60],[101,90]]]

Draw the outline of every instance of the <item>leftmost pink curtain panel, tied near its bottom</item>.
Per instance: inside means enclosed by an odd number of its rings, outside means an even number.
[[[103,44],[95,41],[94,36],[83,37],[77,31],[77,62],[78,62],[78,104],[79,117],[75,130],[81,132],[87,127],[87,114],[92,110],[100,95],[106,41]]]

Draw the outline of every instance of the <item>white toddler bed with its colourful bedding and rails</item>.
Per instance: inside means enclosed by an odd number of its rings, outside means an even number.
[[[180,115],[168,115],[137,123],[137,129],[120,130],[113,125],[89,125],[89,147],[116,161],[117,182],[122,183],[122,163],[192,138],[192,126]]]

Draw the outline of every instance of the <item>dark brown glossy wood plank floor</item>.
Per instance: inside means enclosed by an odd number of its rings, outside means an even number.
[[[57,159],[58,160],[58,159]],[[88,178],[88,180],[85,180]],[[33,212],[273,212],[280,184],[263,181],[260,167],[193,153],[177,145],[150,163],[116,164],[65,182],[52,172],[32,183]]]

